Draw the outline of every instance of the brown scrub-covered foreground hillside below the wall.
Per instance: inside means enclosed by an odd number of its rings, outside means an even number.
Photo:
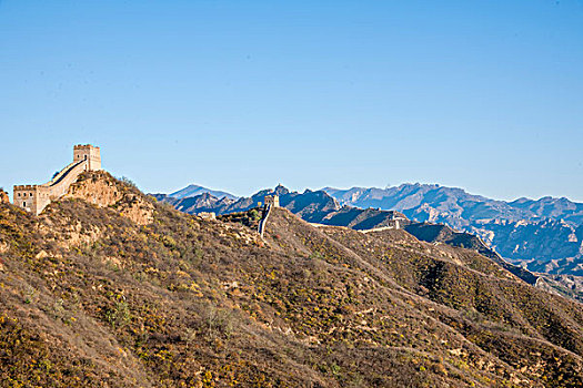
[[[39,217],[0,204],[0,386],[581,386],[581,304],[404,231],[275,208],[262,241],[252,213],[101,172]]]

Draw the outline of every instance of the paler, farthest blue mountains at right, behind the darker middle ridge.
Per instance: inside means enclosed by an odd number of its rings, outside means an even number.
[[[323,188],[341,204],[402,212],[480,236],[503,257],[536,272],[583,275],[583,204],[567,198],[495,201],[461,188],[402,184]]]

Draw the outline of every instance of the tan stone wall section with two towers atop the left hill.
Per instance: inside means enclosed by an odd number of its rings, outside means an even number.
[[[12,201],[14,205],[39,215],[51,201],[58,200],[69,190],[84,171],[101,170],[101,154],[98,146],[76,145],[73,162],[57,173],[51,181],[41,185],[14,186]]]

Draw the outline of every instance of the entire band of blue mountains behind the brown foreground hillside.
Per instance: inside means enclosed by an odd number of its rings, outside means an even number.
[[[200,194],[184,196],[189,187],[195,187],[192,192]],[[201,186],[189,187],[177,192],[181,193],[179,195],[154,196],[185,213],[228,214],[255,207],[267,194],[277,193],[281,206],[311,223],[355,229],[394,225],[399,218],[403,226],[410,224],[409,221],[444,224],[462,234],[480,237],[489,249],[530,270],[583,275],[583,204],[566,198],[505,202],[430,184],[388,188],[324,187],[303,193],[290,192],[280,185],[240,198],[224,192],[219,192],[220,197]]]

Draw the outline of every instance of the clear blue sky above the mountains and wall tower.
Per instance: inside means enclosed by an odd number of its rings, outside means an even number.
[[[439,183],[583,202],[583,2],[0,0],[0,186]]]

